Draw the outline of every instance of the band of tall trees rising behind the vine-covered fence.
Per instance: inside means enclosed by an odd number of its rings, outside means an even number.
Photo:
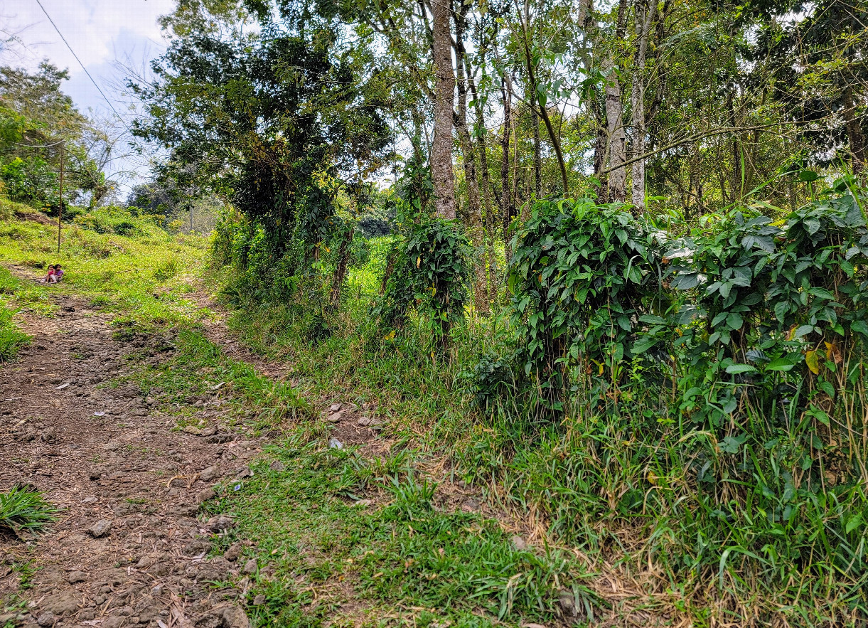
[[[865,8],[833,0],[179,0],[162,23],[133,87],[163,175],[279,252],[324,241],[337,190],[403,160],[398,188],[470,236],[483,313],[535,199],[689,220],[757,188],[793,207],[787,173],[865,167]]]

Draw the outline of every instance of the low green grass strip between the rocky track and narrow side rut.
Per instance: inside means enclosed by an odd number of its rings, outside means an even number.
[[[378,457],[331,446],[333,427],[285,382],[194,331],[178,334],[176,347],[173,360],[137,377],[181,418],[191,397],[214,394],[219,381],[224,419],[286,428],[251,477],[228,481],[207,504],[236,523],[214,551],[242,541],[242,564],[255,565],[254,625],[520,625],[551,622],[566,605],[593,618],[602,604],[575,555],[516,546],[495,521],[450,504],[418,472],[418,452],[393,442]]]

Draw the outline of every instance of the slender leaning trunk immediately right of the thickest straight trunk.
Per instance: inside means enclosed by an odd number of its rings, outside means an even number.
[[[474,286],[473,300],[479,314],[490,313],[488,290],[485,278],[485,241],[482,221],[482,205],[479,199],[479,181],[477,179],[477,160],[473,150],[473,141],[467,129],[467,76],[464,67],[464,15],[466,5],[462,3],[455,16],[456,22],[456,73],[458,85],[458,111],[456,128],[461,153],[464,157],[464,182],[467,183],[467,235],[473,243]]]

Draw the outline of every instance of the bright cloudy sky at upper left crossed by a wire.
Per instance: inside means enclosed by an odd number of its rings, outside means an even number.
[[[157,18],[174,8],[174,0],[40,0],[57,28],[93,76],[127,126],[132,112],[122,86],[126,72],[117,62],[137,69],[165,50]],[[16,36],[16,45],[0,63],[36,69],[43,59],[69,69],[62,90],[77,107],[98,119],[115,119],[109,104],[91,83],[36,0],[0,0],[0,29]],[[5,38],[5,37],[4,37]],[[120,123],[119,123],[119,126]],[[122,182],[121,196],[148,178],[148,163],[128,157],[111,164],[109,176]]]

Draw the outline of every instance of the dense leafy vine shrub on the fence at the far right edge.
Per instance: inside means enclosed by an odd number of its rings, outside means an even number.
[[[859,199],[839,182],[782,221],[753,208],[709,227],[666,254],[678,262],[672,287],[690,295],[672,321],[671,344],[685,365],[683,407],[715,424],[751,404],[782,418],[781,399],[829,410],[809,391],[832,400],[856,375],[868,340],[868,229]],[[707,385],[716,380],[720,386]]]

